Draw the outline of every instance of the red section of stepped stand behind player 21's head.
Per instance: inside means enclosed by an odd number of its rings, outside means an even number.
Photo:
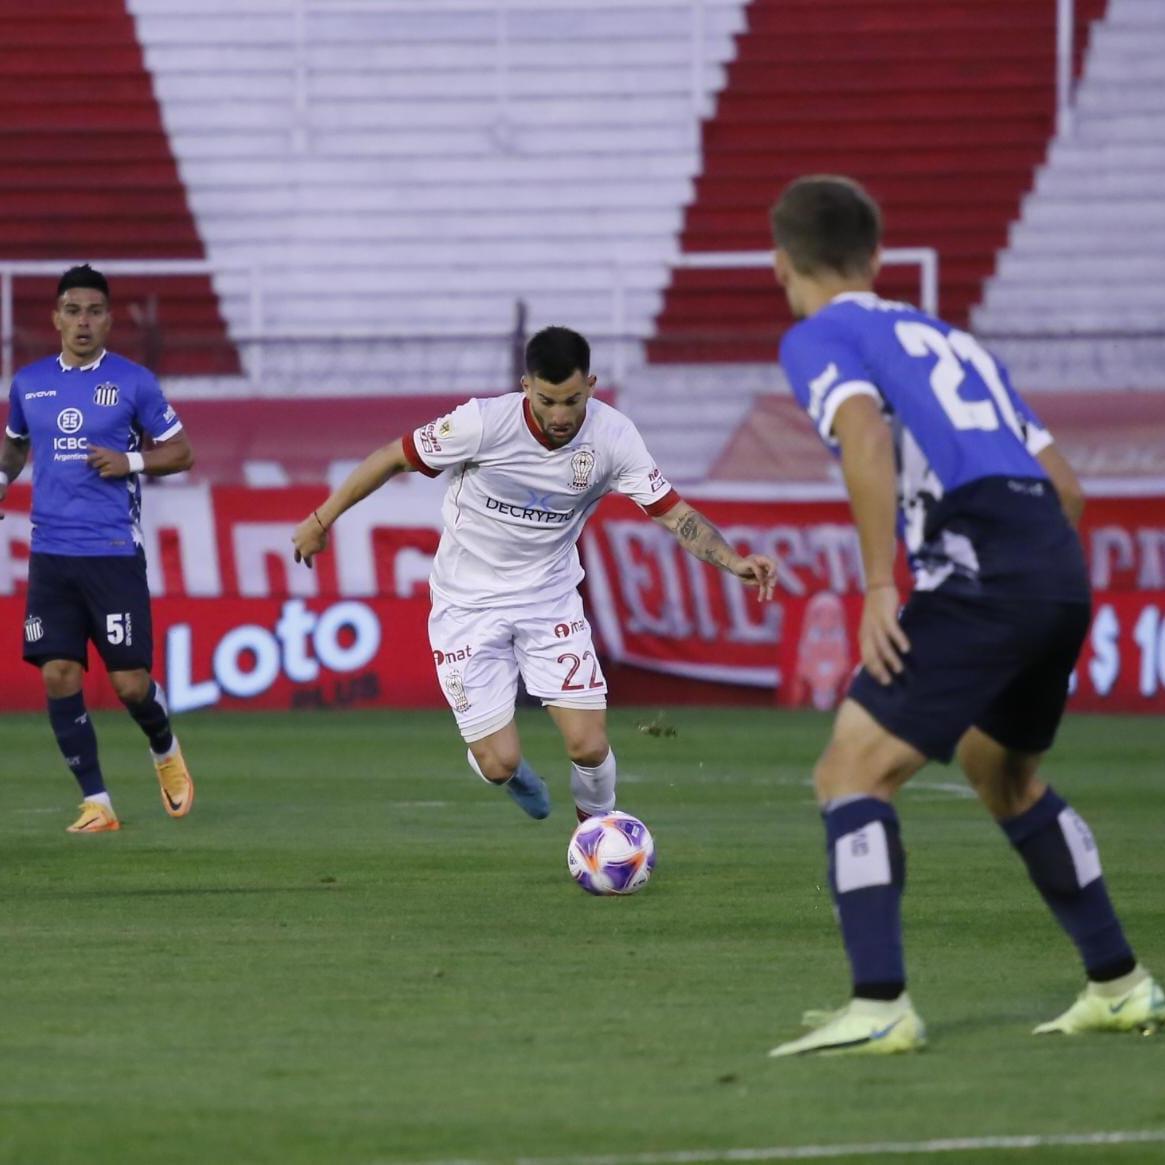
[[[1103,2],[1079,0],[1085,27]],[[882,202],[889,246],[938,248],[941,310],[966,322],[1044,157],[1054,48],[1046,0],[754,0],[683,249],[762,249],[784,183],[849,174]],[[888,271],[883,290],[916,299],[917,274]],[[786,319],[768,270],[677,270],[649,351],[771,360]]]

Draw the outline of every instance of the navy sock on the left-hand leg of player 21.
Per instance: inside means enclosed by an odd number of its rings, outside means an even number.
[[[894,806],[876,797],[826,806],[829,890],[854,977],[854,995],[894,1000],[906,986],[902,890],[906,855]]]

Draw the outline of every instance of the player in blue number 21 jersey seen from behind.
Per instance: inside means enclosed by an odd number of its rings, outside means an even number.
[[[1088,630],[1072,469],[972,336],[873,291],[881,214],[856,183],[802,178],[772,209],[797,323],[781,362],[838,454],[861,543],[862,666],[813,772],[853,998],[771,1055],[925,1043],[906,994],[894,795],[958,757],[1073,941],[1088,983],[1037,1033],[1148,1030],[1165,995],[1109,902],[1092,832],[1039,776]],[[915,587],[899,610],[896,535]]]

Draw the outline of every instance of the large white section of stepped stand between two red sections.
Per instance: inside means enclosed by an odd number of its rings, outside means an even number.
[[[129,0],[240,340],[260,269],[260,390],[496,391],[520,299],[609,382],[746,2]]]

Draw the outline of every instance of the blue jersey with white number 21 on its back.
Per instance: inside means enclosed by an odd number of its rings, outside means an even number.
[[[848,292],[789,330],[781,363],[834,452],[847,400],[881,407],[917,587],[1087,596],[1079,539],[1036,458],[1052,438],[973,336],[910,304]]]

